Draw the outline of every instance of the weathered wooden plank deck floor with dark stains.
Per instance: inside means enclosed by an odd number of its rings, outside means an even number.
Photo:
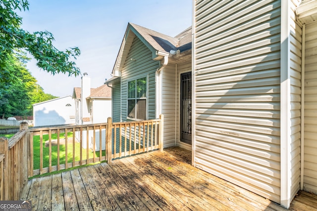
[[[21,200],[41,211],[286,210],[190,163],[190,152],[178,147],[139,154],[32,179]],[[317,210],[316,197],[299,192],[290,210]]]

